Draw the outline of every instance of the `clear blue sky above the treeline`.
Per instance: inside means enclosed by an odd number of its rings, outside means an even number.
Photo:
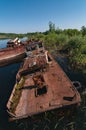
[[[0,0],[0,32],[43,32],[49,21],[61,29],[86,26],[86,0]]]

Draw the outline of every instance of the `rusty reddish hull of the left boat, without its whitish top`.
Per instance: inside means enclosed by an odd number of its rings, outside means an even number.
[[[0,67],[15,63],[26,57],[24,46],[9,47],[0,50]]]

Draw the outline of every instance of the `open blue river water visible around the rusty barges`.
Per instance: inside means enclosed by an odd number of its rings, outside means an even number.
[[[6,47],[8,40],[0,40],[0,48]],[[83,85],[86,84],[82,74],[70,70],[67,64],[67,59],[58,56],[56,60],[72,81],[79,80]],[[22,125],[17,125],[14,122],[9,123],[8,114],[6,112],[6,103],[15,84],[16,73],[20,64],[21,63],[15,63],[0,68],[0,130],[29,130],[28,128],[24,128]],[[48,130],[47,127],[46,130]]]

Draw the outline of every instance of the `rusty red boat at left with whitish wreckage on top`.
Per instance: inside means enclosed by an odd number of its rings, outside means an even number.
[[[26,44],[28,42],[21,42],[18,38],[9,40],[7,47],[0,49],[0,67],[26,57]]]

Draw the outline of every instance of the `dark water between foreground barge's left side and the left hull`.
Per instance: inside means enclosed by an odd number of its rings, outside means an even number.
[[[0,130],[9,130],[11,127],[11,124],[8,123],[6,103],[15,84],[19,67],[20,63],[0,68]]]

